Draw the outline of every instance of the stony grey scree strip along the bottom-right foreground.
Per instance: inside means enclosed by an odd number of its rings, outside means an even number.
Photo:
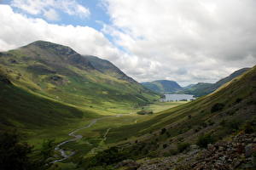
[[[256,133],[239,134],[230,141],[208,144],[207,149],[190,148],[187,153],[145,159],[138,170],[233,170],[256,168]]]

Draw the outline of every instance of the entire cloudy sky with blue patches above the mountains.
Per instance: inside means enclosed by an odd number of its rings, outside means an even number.
[[[138,82],[217,82],[256,65],[255,0],[0,0],[0,51],[44,40]]]

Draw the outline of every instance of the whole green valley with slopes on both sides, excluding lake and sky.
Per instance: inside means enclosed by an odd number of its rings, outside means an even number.
[[[160,102],[158,93],[183,88],[143,84],[154,92],[108,60],[32,42],[0,54],[0,132],[20,133],[32,146],[33,168],[42,170],[150,169],[147,162],[177,157],[168,166],[178,169],[191,145],[255,132],[256,67],[236,73],[216,90],[210,83],[185,89],[207,94],[193,101]]]

